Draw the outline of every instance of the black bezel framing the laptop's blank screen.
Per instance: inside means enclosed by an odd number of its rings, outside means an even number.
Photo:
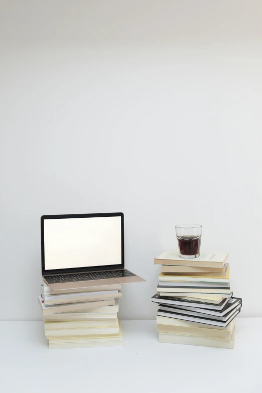
[[[89,218],[89,217],[121,217],[121,264],[117,265],[104,265],[104,266],[91,266],[82,268],[70,269],[52,269],[45,270],[45,236],[44,236],[44,220],[54,220],[60,218]],[[112,270],[124,268],[124,222],[123,213],[91,213],[91,214],[57,214],[57,215],[44,215],[41,217],[41,264],[42,275],[90,272],[99,270]]]

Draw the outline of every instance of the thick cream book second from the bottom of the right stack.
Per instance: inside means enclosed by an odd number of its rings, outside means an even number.
[[[194,326],[175,326],[175,325],[160,325],[157,324],[157,331],[161,333],[174,333],[182,334],[185,336],[197,336],[197,337],[211,337],[221,338],[223,340],[229,340],[232,336],[233,329],[235,327],[235,319],[229,324],[230,330],[224,329],[209,329]]]

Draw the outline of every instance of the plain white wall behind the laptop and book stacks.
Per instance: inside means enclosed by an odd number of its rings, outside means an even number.
[[[262,3],[0,1],[1,319],[40,320],[40,216],[122,211],[122,319],[155,318],[175,224],[262,316]],[[11,278],[11,281],[7,280]]]

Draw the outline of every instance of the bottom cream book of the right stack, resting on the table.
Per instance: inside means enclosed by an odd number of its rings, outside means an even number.
[[[229,340],[223,340],[221,338],[211,337],[195,337],[185,336],[182,334],[172,333],[159,333],[159,342],[165,342],[169,344],[183,344],[183,345],[197,345],[203,347],[214,347],[214,348],[234,348],[235,332],[233,331],[232,337]]]

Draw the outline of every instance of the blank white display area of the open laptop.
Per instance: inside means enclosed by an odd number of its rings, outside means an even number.
[[[121,264],[121,217],[44,220],[45,270]]]

